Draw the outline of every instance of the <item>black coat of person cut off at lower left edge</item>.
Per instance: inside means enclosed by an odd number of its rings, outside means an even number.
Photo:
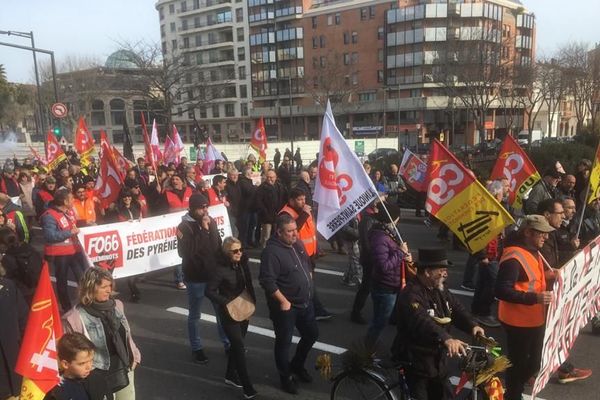
[[[15,373],[15,366],[27,323],[27,304],[15,283],[6,278],[0,278],[0,316],[0,385],[19,396],[21,377]]]

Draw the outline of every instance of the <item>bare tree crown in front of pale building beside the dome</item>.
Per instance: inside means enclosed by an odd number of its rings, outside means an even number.
[[[236,70],[233,65],[203,69],[199,73],[198,66],[194,64],[203,60],[193,59],[188,52],[163,54],[158,44],[144,41],[124,42],[119,47],[131,54],[137,67],[134,91],[150,103],[163,104],[162,110],[155,111],[167,125],[171,125],[175,115],[206,107],[223,97],[236,97],[233,82]],[[198,54],[198,57],[202,56]]]

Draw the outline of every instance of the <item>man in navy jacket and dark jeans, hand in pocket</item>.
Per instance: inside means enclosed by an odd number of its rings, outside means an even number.
[[[298,393],[292,374],[303,382],[312,377],[304,368],[308,352],[319,337],[313,306],[311,263],[298,240],[296,221],[288,215],[277,217],[276,235],[269,239],[260,259],[260,285],[265,290],[275,331],[275,364],[281,387]],[[296,354],[289,360],[294,327],[300,333]]]

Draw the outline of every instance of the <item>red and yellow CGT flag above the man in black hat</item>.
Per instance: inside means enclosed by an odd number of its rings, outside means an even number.
[[[514,223],[510,214],[442,144],[431,147],[425,209],[475,253]]]

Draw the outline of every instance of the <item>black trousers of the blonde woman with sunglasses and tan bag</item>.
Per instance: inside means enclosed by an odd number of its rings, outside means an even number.
[[[223,330],[231,344],[225,377],[229,378],[237,374],[244,389],[252,387],[252,382],[250,382],[250,377],[248,376],[246,349],[244,347],[244,337],[246,337],[246,332],[248,332],[248,322],[234,321],[229,315],[221,315]]]

